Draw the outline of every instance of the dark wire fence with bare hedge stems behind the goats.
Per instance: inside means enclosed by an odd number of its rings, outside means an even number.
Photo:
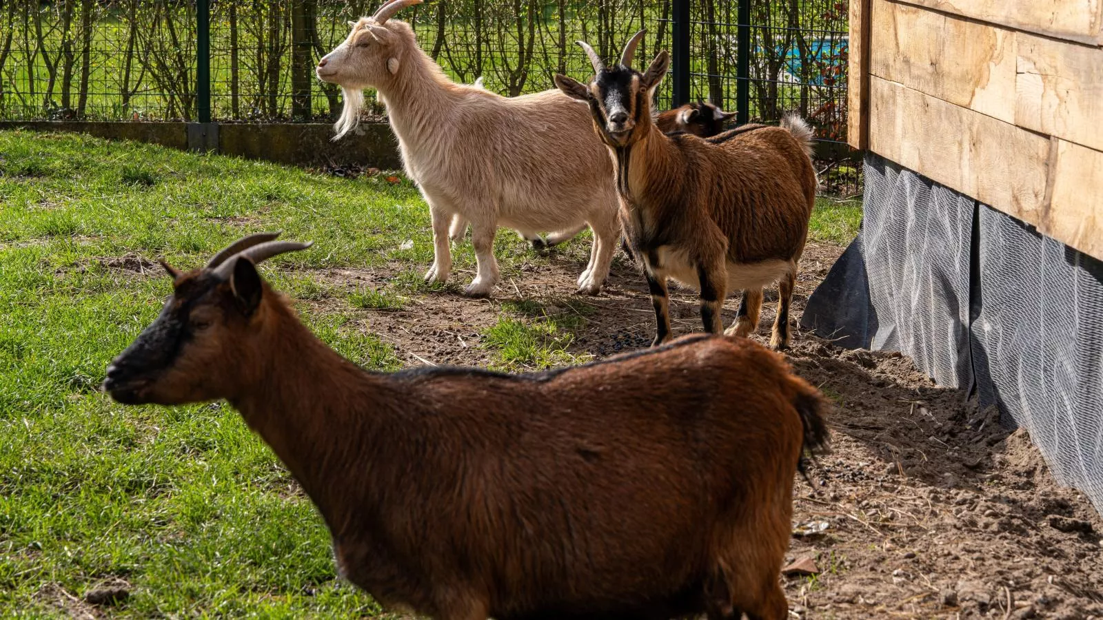
[[[332,120],[340,90],[315,79],[313,66],[345,38],[347,21],[376,8],[377,0],[0,0],[0,120]],[[548,88],[556,72],[586,77],[576,40],[613,57],[646,28],[636,57],[674,55],[660,107],[677,92],[679,100],[738,110],[742,121],[797,111],[816,129],[828,188],[858,191],[859,167],[843,145],[845,1],[429,0],[397,19],[453,78],[482,77],[504,95]],[[378,104],[370,111],[385,113]]]

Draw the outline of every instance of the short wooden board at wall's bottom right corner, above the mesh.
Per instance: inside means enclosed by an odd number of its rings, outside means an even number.
[[[1053,138],[1050,204],[1038,229],[1103,259],[1103,152]]]

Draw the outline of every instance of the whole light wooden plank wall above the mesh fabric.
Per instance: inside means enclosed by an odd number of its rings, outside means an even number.
[[[855,4],[854,146],[1103,259],[1103,0]]]

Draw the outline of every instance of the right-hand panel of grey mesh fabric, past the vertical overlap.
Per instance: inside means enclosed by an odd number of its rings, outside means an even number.
[[[1025,426],[1103,509],[1103,263],[981,206],[973,351],[982,404]]]

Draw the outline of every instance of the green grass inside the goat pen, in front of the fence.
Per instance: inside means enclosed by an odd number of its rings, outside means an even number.
[[[853,235],[858,213],[817,210],[813,238]],[[124,407],[97,391],[170,293],[151,261],[194,268],[264,229],[317,243],[263,271],[322,340],[368,368],[404,364],[365,330],[363,309],[442,288],[421,282],[429,217],[410,183],[0,132],[0,616],[64,614],[72,601],[57,588],[79,598],[119,577],[132,586],[119,617],[378,617],[335,578],[313,506],[236,411]],[[504,232],[499,248],[504,274],[540,259]],[[454,254],[473,269],[470,244]],[[377,289],[350,292],[321,275],[393,261],[408,269]],[[583,360],[569,346],[586,308],[503,303],[484,345],[502,368]]]

